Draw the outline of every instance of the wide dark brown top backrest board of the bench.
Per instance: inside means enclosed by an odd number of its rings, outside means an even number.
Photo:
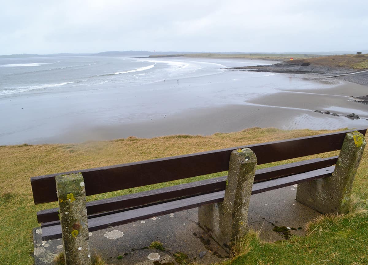
[[[358,131],[365,134],[366,130]],[[60,174],[81,172],[85,179],[86,195],[100,194],[226,171],[229,169],[231,151],[238,148],[251,148],[257,156],[258,165],[335,151],[341,148],[346,133],[352,131],[32,177],[33,200],[35,204],[57,201],[54,177]]]

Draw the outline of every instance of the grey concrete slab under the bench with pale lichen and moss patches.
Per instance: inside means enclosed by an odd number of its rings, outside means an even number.
[[[261,230],[260,237],[266,241],[285,240],[289,233],[303,236],[305,224],[319,213],[296,202],[295,197],[294,186],[252,195],[249,225]],[[188,260],[199,264],[220,262],[228,257],[197,222],[198,208],[194,208],[92,232],[89,240],[91,249],[100,253],[109,265],[173,265],[177,264],[176,253],[185,254]],[[275,226],[290,230],[274,232]],[[42,242],[40,232],[39,228],[33,231],[35,265],[53,264],[55,255],[63,250],[62,239]],[[147,248],[153,241],[160,241],[165,251]]]

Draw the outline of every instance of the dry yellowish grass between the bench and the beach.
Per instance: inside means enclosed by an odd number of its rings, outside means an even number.
[[[332,131],[285,131],[275,128],[250,128],[240,132],[216,133],[210,136],[173,135],[152,139],[129,137],[82,144],[0,146],[0,242],[2,244],[0,264],[33,264],[33,258],[29,257],[29,253],[33,250],[31,230],[38,226],[36,212],[40,209],[56,206],[56,203],[37,206],[33,204],[30,183],[32,176],[221,148],[235,148],[241,145],[328,132]],[[335,154],[337,153],[333,152],[333,155]],[[367,152],[361,160],[353,187],[354,193],[363,199],[368,198],[368,159],[366,154]],[[332,153],[325,153],[318,155],[318,157],[331,155]],[[149,188],[146,187],[146,189]],[[106,196],[112,195],[115,195],[114,192]]]

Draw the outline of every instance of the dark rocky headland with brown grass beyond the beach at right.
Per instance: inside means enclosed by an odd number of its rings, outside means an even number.
[[[266,65],[266,66],[244,66],[227,68],[230,70],[239,71],[256,71],[270,73],[286,73],[286,74],[318,74],[325,77],[330,77],[338,80],[353,82],[355,84],[368,86],[368,72],[351,74],[362,71],[344,67],[329,67],[319,64],[312,64],[305,60],[290,60],[281,63]],[[343,75],[350,74],[350,75]],[[331,77],[334,75],[343,75],[339,77]],[[366,103],[364,103],[366,104]]]

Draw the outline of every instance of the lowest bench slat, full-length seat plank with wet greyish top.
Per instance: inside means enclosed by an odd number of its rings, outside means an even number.
[[[331,176],[335,166],[317,169],[310,172],[296,174],[289,177],[273,179],[253,184],[252,194],[257,194],[277,188],[287,187],[289,185],[298,184],[313,179]],[[113,213],[111,215],[100,216],[88,219],[88,230],[93,232],[96,230],[124,225],[137,220],[148,219],[167,213],[183,211],[186,209],[196,208],[201,205],[211,204],[214,202],[222,202],[225,191],[217,191],[209,194],[198,195],[195,197],[179,199],[177,201],[164,202],[161,204],[151,205],[143,208],[133,209],[125,212]],[[42,240],[51,240],[61,237],[61,226],[52,225],[42,227]]]

